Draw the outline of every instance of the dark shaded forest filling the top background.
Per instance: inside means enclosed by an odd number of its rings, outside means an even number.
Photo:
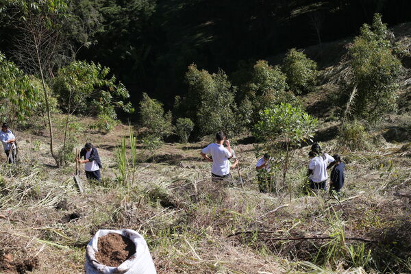
[[[190,64],[232,77],[292,47],[355,36],[375,12],[388,25],[410,21],[410,8],[407,0],[72,0],[62,35],[64,54],[108,66],[134,105],[147,92],[171,109],[187,93]],[[0,51],[17,63],[20,38],[4,19]],[[309,57],[321,66],[321,55]]]

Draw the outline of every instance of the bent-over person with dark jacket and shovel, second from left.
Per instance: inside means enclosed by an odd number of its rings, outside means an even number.
[[[84,157],[84,160],[81,158]],[[89,180],[95,179],[101,182],[101,162],[99,158],[99,151],[91,145],[90,142],[86,142],[84,148],[80,151],[80,158],[76,159],[80,164],[85,164],[86,177]]]

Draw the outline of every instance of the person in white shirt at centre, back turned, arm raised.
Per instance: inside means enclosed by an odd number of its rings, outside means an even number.
[[[227,145],[227,149],[224,147],[224,142]],[[233,157],[229,140],[225,138],[223,132],[216,133],[216,142],[203,148],[200,152],[201,156],[212,162],[211,179],[212,182],[219,182],[226,178],[231,178],[229,172],[229,159]],[[211,154],[212,158],[207,154]]]

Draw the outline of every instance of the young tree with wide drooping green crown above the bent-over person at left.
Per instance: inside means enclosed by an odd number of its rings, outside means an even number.
[[[53,79],[53,90],[58,95],[60,107],[66,113],[62,149],[56,161],[61,165],[67,153],[66,140],[69,134],[72,114],[105,115],[113,121],[117,119],[116,108],[133,112],[125,86],[117,83],[116,77],[108,77],[110,69],[93,62],[71,62],[58,71]],[[69,149],[71,151],[71,149]]]

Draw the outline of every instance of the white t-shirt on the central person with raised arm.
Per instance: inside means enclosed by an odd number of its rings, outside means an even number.
[[[223,146],[212,143],[201,150],[204,154],[212,155],[211,173],[219,176],[229,174],[229,160],[232,154]]]

